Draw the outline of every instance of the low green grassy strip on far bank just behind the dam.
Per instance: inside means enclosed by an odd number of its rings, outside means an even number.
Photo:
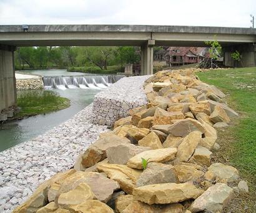
[[[68,72],[84,72],[84,73],[101,73],[101,74],[116,74],[121,72],[120,65],[107,66],[107,70],[101,70],[99,67],[68,67]]]

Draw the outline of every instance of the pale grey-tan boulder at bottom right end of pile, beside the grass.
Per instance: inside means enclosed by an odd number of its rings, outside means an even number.
[[[218,212],[222,211],[232,199],[233,189],[226,184],[217,183],[211,186],[201,196],[197,197],[190,206],[191,212]]]

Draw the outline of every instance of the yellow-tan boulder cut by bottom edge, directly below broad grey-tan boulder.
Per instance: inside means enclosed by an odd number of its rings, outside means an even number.
[[[79,213],[114,213],[111,207],[107,206],[101,201],[86,201],[82,202],[79,205],[70,207],[72,212],[79,212]]]

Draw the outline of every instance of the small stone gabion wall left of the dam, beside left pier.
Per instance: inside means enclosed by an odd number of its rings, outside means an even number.
[[[16,79],[17,90],[42,90],[44,83],[42,78]]]

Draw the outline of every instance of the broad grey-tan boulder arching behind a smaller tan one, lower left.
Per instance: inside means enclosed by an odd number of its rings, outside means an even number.
[[[119,184],[100,173],[77,172],[66,178],[61,184],[59,193],[69,192],[80,183],[86,183],[99,201],[107,202]]]

